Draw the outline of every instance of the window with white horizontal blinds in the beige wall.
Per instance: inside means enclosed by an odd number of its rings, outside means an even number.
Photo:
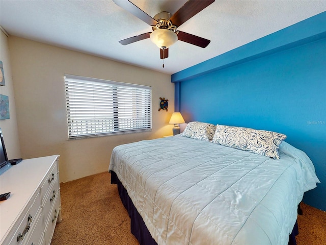
[[[152,129],[152,88],[65,75],[69,139]]]

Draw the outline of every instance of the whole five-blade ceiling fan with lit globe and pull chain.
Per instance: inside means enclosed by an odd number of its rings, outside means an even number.
[[[163,11],[156,14],[152,18],[143,10],[131,3],[130,0],[113,0],[113,2],[115,2],[118,6],[140,18],[152,27],[152,32],[129,37],[119,42],[122,45],[127,45],[150,38],[151,41],[160,48],[161,59],[166,59],[169,57],[169,46],[174,44],[177,40],[204,48],[210,43],[210,40],[186,32],[178,31],[177,28],[185,21],[212,4],[214,1],[215,0],[189,0],[173,15],[169,12]]]

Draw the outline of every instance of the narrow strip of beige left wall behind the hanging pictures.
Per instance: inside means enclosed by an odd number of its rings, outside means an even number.
[[[9,97],[10,119],[0,120],[9,159],[20,158],[19,138],[16,118],[15,96],[12,83],[12,69],[9,57],[8,37],[0,30],[0,60],[4,65],[6,86],[0,86],[0,94]]]

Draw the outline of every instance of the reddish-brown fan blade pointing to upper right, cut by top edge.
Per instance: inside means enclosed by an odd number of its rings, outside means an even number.
[[[205,9],[215,0],[189,0],[170,18],[174,26],[180,27],[185,21]]]

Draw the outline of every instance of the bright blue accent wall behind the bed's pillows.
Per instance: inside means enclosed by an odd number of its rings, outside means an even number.
[[[326,12],[180,71],[172,82],[186,122],[286,134],[321,181],[304,202],[326,210]]]

